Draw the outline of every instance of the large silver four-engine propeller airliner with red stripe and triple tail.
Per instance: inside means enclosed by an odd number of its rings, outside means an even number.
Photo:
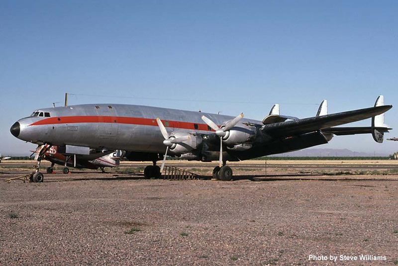
[[[328,143],[333,135],[371,133],[383,142],[384,105],[380,95],[374,107],[327,114],[322,101],[316,116],[298,119],[279,113],[275,104],[263,121],[125,104],[83,104],[38,109],[19,119],[10,129],[15,137],[38,145],[65,147],[67,153],[89,155],[91,150],[124,150],[130,161],[152,161],[145,177],[159,177],[166,155],[203,162],[219,161],[213,177],[230,180],[232,170],[226,161],[241,161],[284,153]],[[370,127],[335,127],[372,118]],[[288,120],[288,121],[287,121]],[[33,180],[42,180],[38,156]],[[162,167],[156,162],[163,156]],[[39,178],[37,178],[39,177]]]

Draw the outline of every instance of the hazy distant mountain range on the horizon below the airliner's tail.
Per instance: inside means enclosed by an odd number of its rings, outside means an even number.
[[[371,157],[388,156],[380,153],[353,152],[348,149],[304,149],[289,153],[271,155],[273,157]]]

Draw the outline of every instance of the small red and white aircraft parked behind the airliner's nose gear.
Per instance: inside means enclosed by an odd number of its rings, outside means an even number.
[[[90,155],[77,155],[67,153],[65,147],[40,145],[37,147],[35,153],[35,160],[37,160],[40,152],[45,149],[43,159],[51,162],[51,166],[47,168],[47,174],[53,173],[54,165],[62,165],[62,173],[68,174],[69,168],[73,167],[77,169],[93,169],[97,170],[100,168],[104,173],[105,167],[118,167],[120,159],[123,157],[121,150],[93,152]]]

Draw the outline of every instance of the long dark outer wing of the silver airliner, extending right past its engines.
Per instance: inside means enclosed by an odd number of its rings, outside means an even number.
[[[392,105],[382,105],[287,122],[267,124],[264,125],[261,130],[274,137],[294,136],[371,118],[386,112],[392,107]]]

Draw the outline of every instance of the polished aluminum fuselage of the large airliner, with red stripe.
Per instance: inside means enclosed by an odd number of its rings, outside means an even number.
[[[156,118],[169,134],[173,132],[210,134],[202,121],[205,115],[217,125],[232,116],[127,104],[83,104],[38,109],[51,117],[30,116],[18,120],[18,138],[32,143],[57,146],[76,145],[94,149],[164,153],[166,146]],[[242,119],[241,123],[261,125]]]

